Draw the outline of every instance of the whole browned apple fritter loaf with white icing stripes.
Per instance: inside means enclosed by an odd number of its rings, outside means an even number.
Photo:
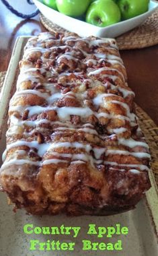
[[[114,214],[150,188],[149,147],[114,39],[30,38],[9,105],[1,185],[31,214]]]

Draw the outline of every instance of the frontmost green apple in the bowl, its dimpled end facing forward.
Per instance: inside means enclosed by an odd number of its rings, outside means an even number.
[[[113,0],[96,0],[87,9],[86,22],[106,27],[120,22],[120,9]]]

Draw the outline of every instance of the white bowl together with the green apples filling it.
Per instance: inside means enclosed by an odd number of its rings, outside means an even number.
[[[34,0],[40,12],[80,36],[115,38],[142,24],[158,7],[149,0]]]

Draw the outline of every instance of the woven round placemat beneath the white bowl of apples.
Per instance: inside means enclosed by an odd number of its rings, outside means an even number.
[[[64,28],[50,22],[40,14],[40,21],[50,32],[65,32]],[[139,27],[116,38],[120,50],[140,49],[158,44],[158,9]]]

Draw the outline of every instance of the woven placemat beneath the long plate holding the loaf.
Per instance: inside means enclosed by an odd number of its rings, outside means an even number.
[[[0,73],[0,92],[3,86],[3,82],[5,79],[5,73]],[[139,117],[139,124],[143,133],[145,134],[145,138],[147,143],[149,144],[149,148],[151,151],[151,169],[155,175],[155,180],[158,186],[158,127],[155,125],[153,120],[143,111],[142,108],[136,105],[136,115]]]

